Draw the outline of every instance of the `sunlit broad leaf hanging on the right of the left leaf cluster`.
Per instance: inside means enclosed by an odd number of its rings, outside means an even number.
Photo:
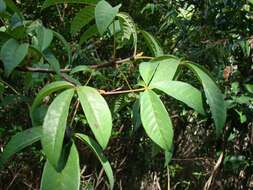
[[[77,88],[83,111],[97,141],[104,149],[111,136],[112,116],[104,98],[91,87]]]

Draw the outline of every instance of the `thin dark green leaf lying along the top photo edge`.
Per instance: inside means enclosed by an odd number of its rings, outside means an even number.
[[[95,5],[98,1],[99,0],[46,0],[42,5],[42,9],[61,3],[78,3],[78,4]]]

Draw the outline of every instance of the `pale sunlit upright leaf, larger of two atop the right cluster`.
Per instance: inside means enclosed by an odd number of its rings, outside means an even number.
[[[150,84],[160,81],[173,80],[177,72],[180,60],[173,56],[161,56],[152,60],[152,62],[158,62],[159,65]]]

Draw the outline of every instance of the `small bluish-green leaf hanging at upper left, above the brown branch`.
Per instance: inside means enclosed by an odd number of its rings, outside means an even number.
[[[47,29],[43,26],[38,27],[37,31],[37,39],[38,39],[38,49],[43,52],[45,49],[49,47],[53,40],[53,32],[50,29]]]

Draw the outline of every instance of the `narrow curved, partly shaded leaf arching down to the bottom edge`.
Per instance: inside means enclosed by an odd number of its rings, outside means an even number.
[[[80,140],[82,140],[85,144],[87,144],[93,150],[93,152],[96,154],[96,156],[98,157],[99,161],[101,162],[101,164],[102,164],[102,166],[103,166],[103,168],[105,170],[105,173],[106,173],[106,175],[108,177],[108,180],[109,180],[109,183],[110,183],[110,189],[113,189],[113,186],[114,186],[114,177],[113,177],[112,168],[111,168],[111,165],[110,165],[109,161],[104,156],[103,150],[89,136],[77,133],[76,137],[79,138]]]

